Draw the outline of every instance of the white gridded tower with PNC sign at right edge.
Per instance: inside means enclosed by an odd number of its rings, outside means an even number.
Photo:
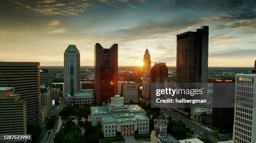
[[[237,74],[234,143],[256,143],[256,74]]]

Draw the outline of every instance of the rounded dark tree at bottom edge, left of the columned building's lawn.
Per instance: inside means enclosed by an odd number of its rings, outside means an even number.
[[[65,137],[64,137],[65,143],[85,143],[86,138],[83,136],[81,131],[72,131],[69,132]]]

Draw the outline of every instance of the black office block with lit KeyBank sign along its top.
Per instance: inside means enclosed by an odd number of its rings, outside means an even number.
[[[212,79],[213,83],[213,107],[223,106],[224,100],[235,102],[236,79]],[[221,96],[215,96],[221,95]],[[231,97],[228,97],[231,95]],[[212,136],[218,137],[219,133],[232,133],[234,123],[233,108],[212,108]]]

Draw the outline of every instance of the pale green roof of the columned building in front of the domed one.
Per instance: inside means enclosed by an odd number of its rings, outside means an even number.
[[[137,119],[148,120],[148,117],[146,117],[143,114],[142,115],[134,115],[132,113],[114,114],[113,116],[102,117],[102,120],[104,122],[125,121],[125,120],[136,121]]]

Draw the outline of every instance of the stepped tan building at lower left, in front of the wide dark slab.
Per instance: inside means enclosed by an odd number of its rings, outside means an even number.
[[[26,134],[26,102],[12,87],[0,87],[0,134]]]

